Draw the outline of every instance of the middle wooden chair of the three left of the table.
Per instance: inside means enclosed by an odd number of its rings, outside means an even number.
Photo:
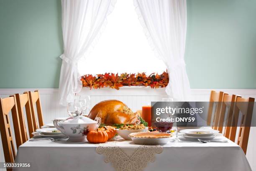
[[[29,137],[32,138],[32,133],[34,132],[33,128],[33,122],[32,122],[32,114],[31,114],[31,107],[29,102],[29,96],[27,93],[25,94],[15,94],[16,102],[17,102],[17,108],[18,108],[18,115],[20,118],[20,129],[21,129],[21,136],[23,143],[25,143],[28,140],[25,120],[24,120],[24,114],[23,109],[25,107],[26,109],[26,116],[27,116],[27,123],[28,123],[28,133]]]

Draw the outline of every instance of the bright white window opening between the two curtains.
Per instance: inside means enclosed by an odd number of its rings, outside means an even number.
[[[86,60],[78,64],[80,74],[166,71],[157,59],[138,20],[132,0],[118,0],[108,16],[108,25]]]

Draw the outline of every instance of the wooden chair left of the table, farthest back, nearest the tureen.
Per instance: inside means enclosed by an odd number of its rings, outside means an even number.
[[[35,132],[36,129],[41,128],[41,126],[44,125],[39,91],[36,90],[35,92],[30,92],[30,91],[24,92],[24,94],[28,94],[29,103],[31,107],[31,116],[27,116],[28,129],[31,131],[33,130],[33,132]],[[35,112],[35,106],[36,106],[37,116]],[[38,118],[39,126],[37,123],[37,118]],[[30,134],[31,133],[32,132],[30,132]]]

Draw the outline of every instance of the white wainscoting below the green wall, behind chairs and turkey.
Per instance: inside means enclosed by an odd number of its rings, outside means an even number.
[[[0,89],[0,97],[9,97],[11,94],[25,91],[33,91],[35,89]],[[192,89],[190,101],[208,101],[211,89]],[[216,91],[224,91],[229,94],[239,94],[243,97],[256,98],[256,89],[215,89]],[[39,89],[41,96],[41,105],[44,115],[44,123],[50,123],[56,117],[67,116],[66,107],[60,106],[57,102],[58,89]],[[124,102],[133,111],[140,110],[142,105],[150,105],[151,101],[161,101],[166,98],[164,88],[151,89],[150,87],[121,87],[120,90],[103,88],[103,89],[88,89],[84,88],[79,95],[90,95],[91,105],[94,106],[102,100],[116,99]],[[25,112],[26,113],[26,112]],[[26,118],[26,117],[25,117]],[[10,122],[12,118],[10,115]],[[11,125],[13,127],[13,125]],[[14,135],[14,133],[13,133]],[[247,158],[251,164],[253,171],[256,171],[256,128],[252,127],[250,132]],[[1,140],[0,140],[1,141]],[[2,144],[0,142],[0,144]],[[2,145],[0,145],[0,162],[4,161]]]

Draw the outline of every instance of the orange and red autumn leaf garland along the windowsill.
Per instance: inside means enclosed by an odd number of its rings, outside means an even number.
[[[90,89],[98,89],[103,87],[110,87],[112,89],[119,89],[123,86],[150,86],[152,89],[159,87],[166,87],[169,82],[167,71],[162,74],[152,73],[149,76],[145,72],[138,74],[86,74],[81,78],[83,87],[90,87]]]

